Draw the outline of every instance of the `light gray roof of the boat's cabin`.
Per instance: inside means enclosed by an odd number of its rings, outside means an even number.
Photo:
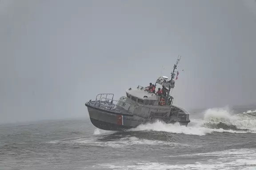
[[[147,91],[144,91],[143,89],[126,90],[126,93],[128,93],[134,97],[143,99],[143,100],[159,100],[159,97],[156,94],[148,93]],[[147,96],[147,97],[144,97],[144,96]]]

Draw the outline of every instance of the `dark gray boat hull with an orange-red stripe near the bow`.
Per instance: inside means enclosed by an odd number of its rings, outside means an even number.
[[[147,119],[134,114],[116,113],[110,110],[100,109],[89,102],[85,104],[88,108],[90,120],[92,124],[99,129],[107,131],[126,131],[130,128],[136,128],[140,124],[154,123],[161,120],[168,124],[179,122],[180,125],[187,126],[190,120],[173,120],[171,117],[164,119]]]

